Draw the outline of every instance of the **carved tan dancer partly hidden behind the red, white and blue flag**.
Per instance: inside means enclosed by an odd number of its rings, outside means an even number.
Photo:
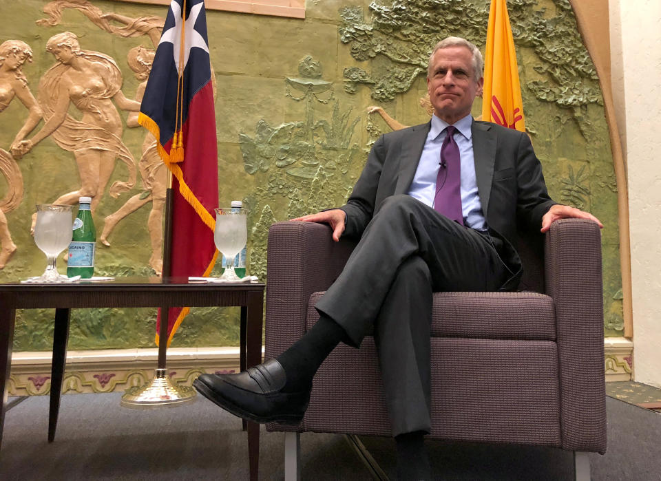
[[[151,72],[151,64],[154,62],[154,54],[156,54],[154,50],[147,49],[142,45],[129,50],[127,58],[129,67],[136,73],[136,78],[142,81],[136,91],[136,101],[138,102],[143,100],[145,87],[147,87],[147,78],[149,77],[149,72]],[[140,127],[136,112],[129,114],[126,125],[128,127]],[[144,192],[134,195],[120,209],[105,217],[103,233],[99,240],[104,246],[110,246],[108,236],[112,233],[118,222],[140,209],[143,205],[151,202],[151,212],[149,212],[149,220],[147,220],[147,229],[149,230],[149,238],[151,239],[149,266],[154,269],[156,275],[160,275],[163,270],[161,252],[163,244],[162,220],[165,209],[167,170],[165,169],[165,164],[163,164],[158,156],[156,138],[149,131],[143,142],[143,156],[138,162],[138,170],[140,171],[140,176],[143,178]]]

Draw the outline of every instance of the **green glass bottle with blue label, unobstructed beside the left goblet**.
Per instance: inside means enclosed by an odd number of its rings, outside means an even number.
[[[69,244],[67,276],[81,276],[90,279],[94,275],[94,251],[96,250],[96,229],[92,220],[90,204],[92,197],[81,197],[78,215],[74,220],[74,232]]]

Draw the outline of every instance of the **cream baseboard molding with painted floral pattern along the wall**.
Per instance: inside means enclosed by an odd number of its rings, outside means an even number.
[[[623,337],[604,339],[606,381],[631,381],[633,342]],[[262,355],[263,355],[262,348]],[[7,383],[9,396],[50,393],[51,352],[15,352]],[[158,349],[121,349],[67,352],[63,394],[123,392],[154,377]],[[172,381],[191,385],[205,372],[239,372],[239,348],[174,348],[167,351]]]

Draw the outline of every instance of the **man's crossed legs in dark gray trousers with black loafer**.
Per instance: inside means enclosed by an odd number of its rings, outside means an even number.
[[[258,423],[302,420],[313,376],[335,346],[374,332],[398,475],[426,479],[430,431],[432,292],[497,290],[507,269],[487,233],[466,228],[408,195],[389,197],[342,274],[315,306],[317,323],[277,359],[240,374],[202,374],[200,394]]]

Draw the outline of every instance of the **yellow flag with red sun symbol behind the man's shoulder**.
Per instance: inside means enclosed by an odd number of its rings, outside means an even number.
[[[525,132],[521,84],[505,0],[491,0],[484,55],[482,120]]]

